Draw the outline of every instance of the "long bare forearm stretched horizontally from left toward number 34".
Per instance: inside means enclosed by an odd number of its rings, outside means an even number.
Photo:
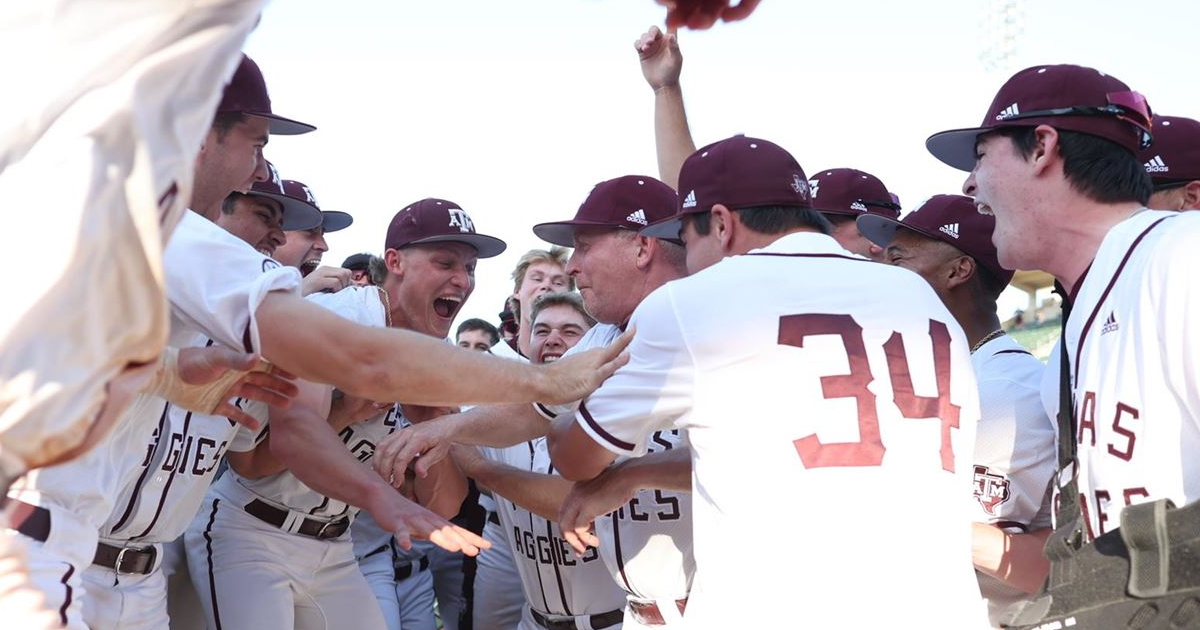
[[[551,385],[534,366],[407,330],[355,325],[278,292],[263,301],[257,318],[263,355],[270,361],[300,378],[373,401],[528,403],[546,397]]]

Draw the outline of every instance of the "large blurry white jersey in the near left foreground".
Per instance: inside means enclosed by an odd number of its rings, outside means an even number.
[[[8,2],[0,53],[0,474],[76,445],[167,338],[162,246],[264,0]],[[149,113],[152,113],[150,115]],[[106,400],[112,396],[110,404]]]

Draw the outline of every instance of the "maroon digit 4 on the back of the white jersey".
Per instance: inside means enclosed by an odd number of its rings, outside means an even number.
[[[938,418],[942,420],[942,469],[954,472],[954,445],[950,430],[959,427],[961,407],[950,402],[950,331],[941,322],[929,320],[929,337],[934,344],[934,373],[937,377],[937,396],[917,396],[912,389],[908,371],[908,354],[904,338],[893,332],[883,344],[892,376],[892,392],[900,414],[908,419]]]

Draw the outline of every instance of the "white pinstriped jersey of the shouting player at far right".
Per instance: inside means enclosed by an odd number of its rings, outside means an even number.
[[[1200,498],[1200,214],[1118,223],[1076,283],[1064,342],[1073,373],[1079,492],[1092,535],[1126,505]],[[1057,354],[1043,398],[1057,413]]]

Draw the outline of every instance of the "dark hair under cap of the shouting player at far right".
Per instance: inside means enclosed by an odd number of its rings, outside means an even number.
[[[1028,158],[1038,145],[1034,128],[1003,127],[995,133],[1012,138],[1018,154]],[[1150,202],[1154,185],[1146,167],[1120,144],[1091,133],[1058,130],[1058,152],[1067,181],[1088,199],[1103,204]]]

